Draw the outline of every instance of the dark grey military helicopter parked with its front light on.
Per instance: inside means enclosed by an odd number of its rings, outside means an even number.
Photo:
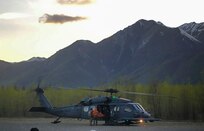
[[[60,123],[60,118],[77,118],[88,119],[90,125],[97,125],[97,121],[104,121],[106,125],[130,125],[142,122],[154,122],[159,121],[158,118],[151,117],[142,105],[135,103],[132,100],[119,98],[113,96],[113,93],[118,93],[117,89],[85,89],[90,91],[99,91],[110,93],[110,96],[97,96],[94,98],[85,98],[75,105],[66,107],[53,107],[44,95],[44,90],[38,87],[35,89],[39,98],[41,107],[32,107],[30,112],[44,112],[57,116],[58,118],[52,123]],[[156,94],[149,93],[137,93],[127,92],[122,93],[146,95],[146,96],[158,96]],[[161,95],[160,95],[161,96]],[[98,112],[103,114],[100,117],[93,117],[92,111],[96,108]],[[94,122],[93,122],[94,120]]]

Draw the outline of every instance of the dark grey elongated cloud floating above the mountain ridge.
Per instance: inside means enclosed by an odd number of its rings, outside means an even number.
[[[73,22],[73,21],[79,21],[79,20],[84,20],[86,17],[81,17],[81,16],[66,16],[66,15],[49,15],[49,14],[44,14],[42,17],[39,18],[39,23],[60,23],[63,24],[65,22]]]

